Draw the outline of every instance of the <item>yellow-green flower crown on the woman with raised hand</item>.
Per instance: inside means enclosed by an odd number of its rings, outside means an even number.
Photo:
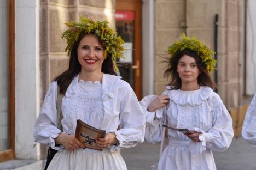
[[[173,54],[186,49],[195,51],[197,53],[197,55],[201,58],[205,69],[209,73],[215,69],[215,65],[217,63],[217,60],[214,59],[215,52],[213,52],[205,44],[201,43],[194,36],[189,39],[184,33],[182,33],[181,40],[177,40],[173,45],[168,47],[168,54],[170,54],[172,60]]]

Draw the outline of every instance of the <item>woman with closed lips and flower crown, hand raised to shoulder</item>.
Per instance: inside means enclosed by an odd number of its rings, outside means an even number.
[[[212,151],[229,147],[234,136],[232,119],[213,92],[214,52],[195,37],[182,34],[181,38],[168,47],[165,77],[171,76],[169,86],[162,95],[149,95],[140,102],[146,114],[145,138],[152,143],[161,141],[163,124],[188,129],[168,129],[168,145],[158,169],[216,169]]]

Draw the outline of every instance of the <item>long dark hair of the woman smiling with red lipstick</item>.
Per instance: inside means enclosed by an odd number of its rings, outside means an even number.
[[[62,94],[66,93],[67,88],[69,84],[72,82],[73,78],[77,76],[81,71],[81,65],[78,61],[77,49],[80,41],[85,37],[85,35],[88,35],[88,34],[80,34],[78,37],[78,40],[74,43],[74,46],[70,54],[68,69],[62,72],[62,74],[60,74],[59,76],[54,78],[54,81],[57,81],[57,84],[60,86],[60,93]],[[95,34],[92,34],[92,35],[95,35]],[[104,44],[100,40],[100,38],[98,38],[97,35],[95,35],[95,37],[98,39],[102,47],[104,47]],[[113,60],[110,54],[108,53],[107,53],[107,58],[104,59],[102,63],[101,71],[106,74],[117,75],[114,70]]]

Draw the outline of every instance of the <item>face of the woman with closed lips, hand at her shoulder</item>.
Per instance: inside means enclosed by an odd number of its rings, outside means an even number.
[[[181,78],[182,83],[197,83],[197,77],[200,70],[197,67],[195,58],[184,55],[179,59],[177,72]]]

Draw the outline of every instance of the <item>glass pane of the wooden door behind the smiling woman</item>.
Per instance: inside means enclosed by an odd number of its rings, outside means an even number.
[[[115,26],[117,27],[118,35],[120,35],[124,41],[125,59],[120,59],[118,62],[118,68],[120,70],[120,76],[123,80],[128,82],[134,90],[134,33],[135,33],[135,13],[134,11],[116,11],[115,12]]]

